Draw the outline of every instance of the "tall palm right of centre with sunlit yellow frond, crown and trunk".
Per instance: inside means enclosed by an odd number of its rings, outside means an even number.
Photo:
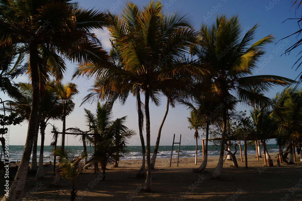
[[[273,36],[268,35],[251,45],[256,28],[257,25],[241,37],[243,28],[238,16],[226,18],[226,15],[220,15],[209,28],[206,24],[201,25],[202,40],[191,46],[191,54],[196,55],[201,63],[207,64],[210,79],[213,81],[212,90],[219,98],[223,113],[220,157],[212,174],[213,179],[219,179],[222,175],[227,110],[230,100],[268,106],[271,100],[252,92],[251,89],[259,88],[260,91],[268,91],[274,85],[286,85],[290,81],[272,75],[248,76],[257,68],[257,62],[264,54],[264,46],[273,40]]]

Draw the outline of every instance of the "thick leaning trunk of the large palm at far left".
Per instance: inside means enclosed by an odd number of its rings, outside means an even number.
[[[39,109],[39,76],[38,76],[38,52],[37,43],[32,41],[29,45],[30,54],[30,70],[31,70],[31,84],[33,87],[33,95],[31,102],[31,113],[28,121],[27,138],[24,146],[23,155],[19,164],[18,171],[13,183],[9,188],[9,196],[4,196],[1,201],[21,201],[24,192],[25,180],[28,171],[29,161],[31,159],[31,151],[34,144],[34,137],[36,135],[37,117]]]

